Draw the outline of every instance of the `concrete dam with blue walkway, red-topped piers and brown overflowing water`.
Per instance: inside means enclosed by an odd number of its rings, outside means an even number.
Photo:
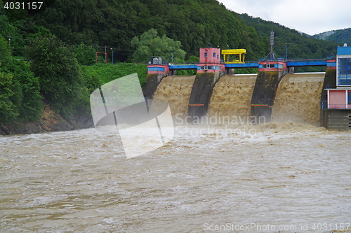
[[[345,47],[351,57],[349,48]],[[149,62],[145,97],[168,101],[173,116],[181,114],[190,122],[204,116],[235,116],[351,129],[351,82],[340,84],[337,80],[338,55],[246,63],[246,50],[222,50],[223,59],[220,53],[220,48],[200,48],[197,64]],[[343,52],[342,56],[347,55]],[[326,71],[294,73],[295,66],[325,66]],[[234,74],[234,69],[250,67],[257,67],[258,73]],[[176,76],[182,69],[196,69],[197,74]],[[341,98],[346,103],[338,104]]]

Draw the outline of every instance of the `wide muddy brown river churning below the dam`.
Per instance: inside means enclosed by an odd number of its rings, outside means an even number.
[[[129,160],[117,134],[95,129],[0,136],[0,232],[350,223],[350,132],[231,127],[178,125],[171,143]]]

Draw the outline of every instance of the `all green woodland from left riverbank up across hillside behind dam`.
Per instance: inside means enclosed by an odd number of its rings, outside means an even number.
[[[114,63],[171,59],[171,50],[175,61],[194,62],[199,48],[211,43],[244,48],[246,59],[258,59],[270,51],[271,30],[279,57],[285,43],[289,58],[326,57],[340,45],[238,15],[216,0],[47,0],[40,10],[11,9],[9,2],[0,0],[0,122],[38,119],[44,101],[62,115],[88,111],[89,94],[124,73],[136,72],[145,82],[145,65],[112,67],[112,52]],[[99,55],[100,64],[83,66],[105,50],[107,61]]]

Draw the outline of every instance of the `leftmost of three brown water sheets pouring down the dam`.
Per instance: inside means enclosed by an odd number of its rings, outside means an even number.
[[[195,76],[168,76],[161,80],[153,99],[167,101],[173,116],[181,113],[185,118],[194,79]]]

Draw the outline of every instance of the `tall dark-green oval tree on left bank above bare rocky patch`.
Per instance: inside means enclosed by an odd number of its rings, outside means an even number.
[[[38,37],[27,47],[31,69],[39,77],[44,98],[58,112],[74,111],[79,104],[83,78],[72,48],[67,48],[53,36]]]

